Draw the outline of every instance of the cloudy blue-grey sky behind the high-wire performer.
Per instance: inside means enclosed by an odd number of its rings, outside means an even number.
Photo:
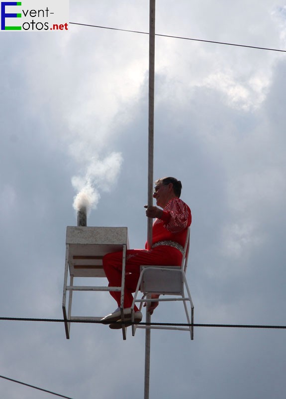
[[[70,22],[148,32],[149,1],[70,0]],[[279,0],[157,0],[159,34],[286,49]],[[0,316],[61,319],[66,227],[147,237],[148,35],[69,25],[0,36]],[[194,322],[286,325],[286,53],[156,37],[154,180],[191,207]],[[180,306],[181,305],[181,306]],[[78,293],[104,316],[108,293]],[[182,304],[154,322],[185,323]],[[144,330],[0,321],[0,375],[73,399],[143,398]],[[285,330],[152,331],[150,398],[284,399]],[[53,396],[0,379],[1,398]]]

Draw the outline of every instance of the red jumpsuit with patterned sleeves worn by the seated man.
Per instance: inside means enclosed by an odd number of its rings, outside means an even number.
[[[155,219],[152,228],[152,244],[159,241],[174,241],[184,247],[187,228],[191,225],[191,209],[180,200],[170,200],[163,209],[160,219]],[[146,248],[146,244],[145,244]],[[150,250],[128,249],[125,263],[124,308],[130,308],[133,301],[132,292],[136,290],[141,265],[180,266],[182,252],[169,245],[158,245]],[[111,252],[103,257],[103,269],[109,287],[120,287],[122,271],[122,251]],[[111,296],[120,307],[120,292],[110,291]],[[134,306],[135,312],[138,310]]]

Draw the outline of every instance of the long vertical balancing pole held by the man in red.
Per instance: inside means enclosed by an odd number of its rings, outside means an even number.
[[[153,159],[154,159],[154,80],[155,80],[155,0],[149,8],[149,127],[148,127],[148,206],[153,205]],[[152,247],[152,218],[148,217],[147,248]],[[149,298],[149,296],[147,296]],[[149,302],[146,306],[146,322],[151,322]],[[145,330],[145,383],[144,399],[149,399],[151,329]]]

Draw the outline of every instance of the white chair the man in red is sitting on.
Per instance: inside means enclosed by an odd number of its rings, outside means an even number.
[[[193,311],[194,306],[191,300],[191,293],[187,283],[186,271],[188,265],[190,247],[190,227],[188,227],[186,243],[184,247],[182,264],[180,266],[162,266],[162,265],[144,265],[140,266],[140,277],[138,280],[137,288],[134,293],[134,300],[131,306],[131,319],[134,322],[134,305],[140,303],[140,311],[143,303],[151,302],[151,294],[164,295],[165,298],[159,298],[156,301],[182,301],[184,303],[187,322],[190,324],[188,327],[177,326],[150,326],[150,325],[135,325],[132,324],[132,335],[135,335],[136,328],[150,328],[150,329],[164,329],[164,330],[185,330],[190,331],[191,340],[193,340]],[[185,290],[187,296],[185,296]],[[141,299],[137,299],[139,290],[143,293]],[[191,318],[187,307],[187,302],[190,303]],[[146,307],[147,314],[147,307]]]

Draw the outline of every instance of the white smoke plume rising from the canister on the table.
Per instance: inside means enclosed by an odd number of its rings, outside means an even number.
[[[87,166],[85,176],[74,176],[72,185],[78,192],[73,206],[79,210],[86,206],[90,211],[96,208],[100,199],[99,191],[109,191],[115,183],[121,168],[123,158],[121,153],[111,153],[103,160],[93,157]]]

